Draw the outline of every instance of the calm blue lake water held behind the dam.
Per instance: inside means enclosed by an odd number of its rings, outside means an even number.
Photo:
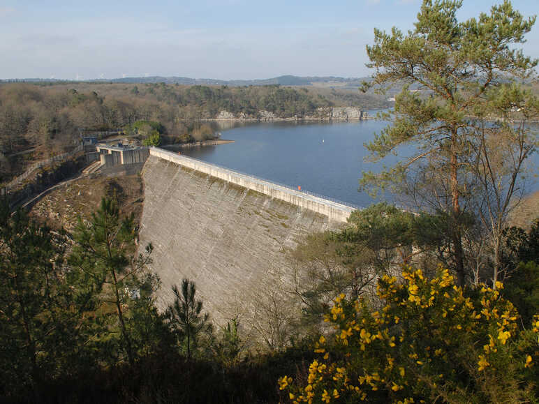
[[[183,154],[200,158],[245,174],[285,184],[366,207],[374,200],[358,192],[362,171],[381,169],[382,163],[364,161],[368,155],[364,142],[387,125],[384,121],[342,123],[269,122],[235,124],[221,130],[222,139],[234,143],[184,149]],[[412,147],[399,150],[411,155]],[[391,165],[396,156],[383,163]],[[536,190],[537,186],[531,187]],[[391,201],[392,195],[381,199]]]

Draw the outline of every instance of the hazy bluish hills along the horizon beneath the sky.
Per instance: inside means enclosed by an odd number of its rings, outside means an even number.
[[[293,75],[284,75],[273,77],[271,79],[262,80],[215,80],[215,79],[193,79],[190,77],[122,77],[112,80],[81,80],[82,82],[112,82],[112,83],[165,83],[165,84],[183,84],[183,85],[216,85],[216,86],[315,86],[315,87],[358,87],[363,80],[369,80],[367,77],[300,77]],[[27,78],[27,79],[10,79],[0,80],[0,82],[71,82],[72,80],[57,80],[57,79],[42,79],[42,78]],[[75,80],[73,80],[75,82]]]

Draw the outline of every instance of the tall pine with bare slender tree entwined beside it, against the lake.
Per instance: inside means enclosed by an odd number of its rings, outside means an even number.
[[[362,184],[393,184],[422,209],[451,219],[450,256],[459,285],[467,276],[463,212],[473,212],[489,235],[496,285],[510,201],[537,145],[537,134],[524,122],[537,116],[538,102],[519,80],[533,75],[538,61],[513,46],[524,42],[536,18],[524,19],[504,1],[490,14],[458,22],[461,6],[459,0],[424,0],[413,31],[374,30],[374,45],[367,46],[374,84],[406,85],[396,97],[392,125],[367,148],[373,160],[402,144],[418,145],[418,152],[380,174],[364,173]]]

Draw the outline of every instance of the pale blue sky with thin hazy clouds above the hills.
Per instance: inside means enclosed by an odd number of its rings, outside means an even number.
[[[500,0],[501,1],[501,0]],[[500,1],[464,0],[459,20]],[[537,0],[512,1],[529,17]],[[0,79],[364,77],[373,29],[420,0],[0,0]],[[522,45],[539,57],[539,22]]]

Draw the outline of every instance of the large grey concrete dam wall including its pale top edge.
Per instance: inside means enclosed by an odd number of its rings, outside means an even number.
[[[154,246],[158,306],[189,278],[218,324],[256,315],[265,294],[290,287],[283,251],[309,233],[341,227],[354,209],[157,148],[142,178],[140,246]]]

